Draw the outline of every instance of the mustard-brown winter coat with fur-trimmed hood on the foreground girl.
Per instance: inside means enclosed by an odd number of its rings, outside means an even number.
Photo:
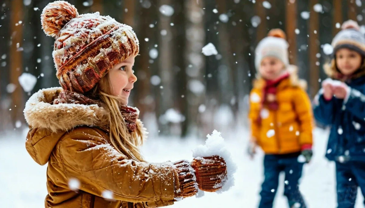
[[[49,88],[28,100],[26,148],[47,164],[45,207],[147,208],[171,205],[179,187],[168,163],[128,159],[110,144],[97,105],[51,104],[62,88]],[[138,124],[141,125],[141,124]],[[93,126],[93,127],[91,127]],[[111,199],[105,199],[111,198]]]

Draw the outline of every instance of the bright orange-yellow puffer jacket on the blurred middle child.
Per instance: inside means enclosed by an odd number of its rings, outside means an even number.
[[[294,70],[294,69],[293,69]],[[295,70],[277,86],[276,111],[262,106],[265,80],[258,79],[250,93],[251,136],[266,154],[301,151],[312,144],[313,113],[310,99]]]

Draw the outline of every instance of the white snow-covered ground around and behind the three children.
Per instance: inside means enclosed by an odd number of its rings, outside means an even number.
[[[217,129],[219,130],[219,129]],[[224,132],[222,136],[225,137]],[[315,130],[315,155],[311,164],[305,165],[300,189],[309,208],[335,208],[335,172],[334,163],[324,158],[327,132]],[[0,136],[0,201],[2,208],[40,208],[43,207],[46,190],[46,168],[35,163],[24,147],[25,135]],[[235,186],[222,194],[206,193],[201,198],[191,197],[177,202],[171,208],[196,207],[257,207],[262,182],[262,153],[254,160],[245,155],[247,133],[242,130],[236,136],[225,138],[227,146],[238,166],[235,174]],[[192,159],[191,149],[203,144],[201,139],[149,138],[143,147],[143,153],[151,162],[179,159]],[[287,207],[283,196],[284,179],[276,197],[276,208]],[[356,208],[362,205],[363,197],[359,190]]]

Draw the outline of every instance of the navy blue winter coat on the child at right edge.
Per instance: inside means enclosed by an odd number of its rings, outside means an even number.
[[[345,162],[365,161],[365,76],[346,83],[347,101],[335,97],[326,101],[321,89],[314,100],[315,119],[331,127],[326,157]]]

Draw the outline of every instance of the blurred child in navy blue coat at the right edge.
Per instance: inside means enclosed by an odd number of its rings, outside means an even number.
[[[349,20],[332,46],[330,79],[315,97],[314,116],[331,126],[326,157],[336,163],[338,208],[353,208],[357,188],[365,194],[365,36]]]

